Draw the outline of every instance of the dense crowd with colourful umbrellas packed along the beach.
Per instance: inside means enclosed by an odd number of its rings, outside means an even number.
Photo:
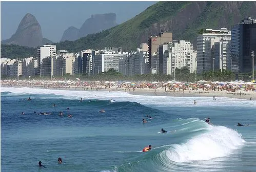
[[[154,92],[156,89],[165,89],[166,92],[175,91],[226,91],[226,93],[233,93],[236,91],[244,90],[247,93],[249,91],[256,91],[256,83],[233,81],[233,82],[219,82],[219,81],[197,81],[197,82],[179,82],[179,81],[167,81],[167,82],[124,82],[124,81],[90,81],[85,82],[81,80],[1,80],[1,85],[8,87],[36,87],[44,89],[75,89],[75,90],[123,90],[123,91],[135,91],[137,89],[151,89]]]

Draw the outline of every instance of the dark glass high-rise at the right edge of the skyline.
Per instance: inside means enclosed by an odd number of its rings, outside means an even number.
[[[252,71],[252,50],[256,51],[256,19],[248,17],[231,30],[230,56],[234,73]]]

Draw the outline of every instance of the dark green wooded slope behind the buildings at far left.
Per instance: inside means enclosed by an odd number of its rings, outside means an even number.
[[[1,44],[1,58],[27,58],[35,57],[36,49],[30,47],[23,47],[18,45]]]

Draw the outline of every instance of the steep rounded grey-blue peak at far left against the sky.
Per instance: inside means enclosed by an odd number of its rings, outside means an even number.
[[[36,47],[42,45],[43,35],[36,18],[27,13],[11,38],[1,41],[2,44]]]

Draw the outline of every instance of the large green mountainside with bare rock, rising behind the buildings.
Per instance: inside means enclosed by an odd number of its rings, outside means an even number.
[[[174,40],[192,41],[196,49],[196,36],[201,29],[230,30],[245,17],[255,18],[255,9],[256,2],[158,2],[121,25],[56,46],[69,52],[104,47],[129,51],[164,30],[172,32]]]

